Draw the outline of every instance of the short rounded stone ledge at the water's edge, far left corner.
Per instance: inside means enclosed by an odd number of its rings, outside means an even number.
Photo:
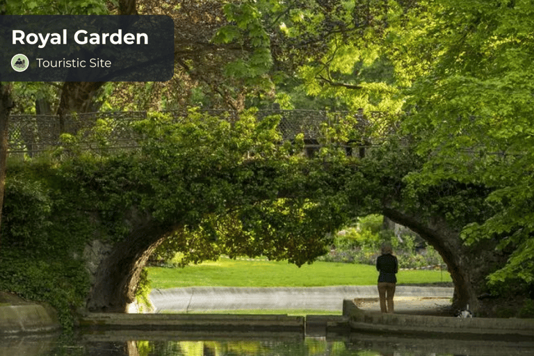
[[[56,315],[42,305],[0,307],[0,335],[51,332],[60,329]]]

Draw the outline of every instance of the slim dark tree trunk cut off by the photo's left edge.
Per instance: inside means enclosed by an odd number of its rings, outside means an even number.
[[[5,86],[0,83],[0,227],[2,219],[3,189],[4,186],[6,186],[9,113],[12,107],[13,100],[11,99],[11,86]]]

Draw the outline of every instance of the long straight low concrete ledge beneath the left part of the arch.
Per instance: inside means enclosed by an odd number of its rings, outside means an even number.
[[[287,315],[249,314],[104,314],[81,316],[79,326],[92,330],[252,330],[304,332],[305,318]]]

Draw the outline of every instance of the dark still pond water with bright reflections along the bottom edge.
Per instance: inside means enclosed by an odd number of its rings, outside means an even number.
[[[350,334],[328,339],[302,334],[218,335],[184,332],[77,334],[0,338],[0,356],[453,356],[534,355],[534,340],[414,339]]]

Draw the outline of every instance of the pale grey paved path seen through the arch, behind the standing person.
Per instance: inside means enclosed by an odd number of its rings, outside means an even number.
[[[453,288],[397,286],[396,312],[451,304]],[[191,287],[156,289],[150,293],[156,312],[202,312],[236,309],[312,309],[341,311],[343,299],[357,300],[362,309],[378,310],[376,286],[309,288]]]

